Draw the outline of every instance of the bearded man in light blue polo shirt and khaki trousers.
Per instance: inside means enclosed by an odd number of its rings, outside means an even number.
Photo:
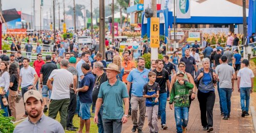
[[[145,69],[145,60],[143,58],[138,58],[137,69],[133,69],[127,77],[128,92],[130,91],[131,84],[133,82],[132,97],[131,97],[132,121],[133,121],[132,132],[135,132],[136,129],[138,129],[139,133],[142,132],[142,127],[144,125],[146,98],[143,98],[143,86],[148,82],[149,72],[150,71],[148,69]],[[137,121],[138,106],[140,109],[139,122]]]

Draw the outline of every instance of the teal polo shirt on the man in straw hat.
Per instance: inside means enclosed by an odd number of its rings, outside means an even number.
[[[117,80],[114,85],[110,85],[109,80],[103,82],[99,88],[98,98],[103,99],[103,119],[122,119],[123,98],[128,98],[125,83]]]

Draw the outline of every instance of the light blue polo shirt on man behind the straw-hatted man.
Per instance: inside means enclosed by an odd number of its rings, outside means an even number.
[[[128,77],[127,81],[128,82],[133,82],[132,85],[132,95],[137,96],[137,97],[142,97],[143,96],[143,86],[145,83],[148,82],[148,73],[150,70],[144,69],[142,72],[140,72],[137,68],[133,69]]]

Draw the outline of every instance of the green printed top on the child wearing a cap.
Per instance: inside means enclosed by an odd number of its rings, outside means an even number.
[[[193,84],[188,81],[184,81],[184,84],[180,84],[176,81],[173,85],[172,92],[170,92],[169,103],[174,102],[174,106],[177,107],[189,107],[189,90],[194,87]]]

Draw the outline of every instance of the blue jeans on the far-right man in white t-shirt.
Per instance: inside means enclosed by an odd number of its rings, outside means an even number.
[[[250,103],[250,91],[251,87],[241,87],[240,88],[240,98],[241,98],[241,109],[242,111],[248,112]],[[244,105],[245,101],[245,105]]]

